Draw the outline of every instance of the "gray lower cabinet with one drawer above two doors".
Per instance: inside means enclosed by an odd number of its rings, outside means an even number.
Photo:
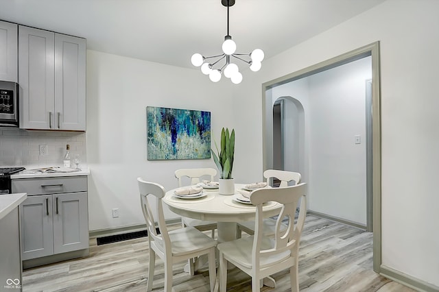
[[[25,267],[88,254],[87,178],[39,178],[12,180],[12,192],[27,193],[20,205],[21,258]],[[60,255],[62,256],[56,256]],[[50,257],[52,256],[52,257]]]

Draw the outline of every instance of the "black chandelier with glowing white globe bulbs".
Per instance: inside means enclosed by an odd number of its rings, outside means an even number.
[[[222,43],[223,53],[220,55],[205,57],[200,53],[194,53],[191,58],[193,66],[201,66],[201,71],[204,75],[209,75],[212,82],[221,80],[222,73],[234,84],[239,84],[242,81],[242,74],[239,72],[237,64],[232,60],[239,60],[246,63],[250,70],[256,72],[261,69],[261,62],[264,54],[261,49],[254,49],[251,53],[235,53],[236,44],[232,37],[228,34],[228,8],[235,4],[235,0],[222,0],[222,5],[227,7],[227,35],[224,37]],[[232,57],[233,59],[231,59]],[[225,59],[225,62],[220,62]]]

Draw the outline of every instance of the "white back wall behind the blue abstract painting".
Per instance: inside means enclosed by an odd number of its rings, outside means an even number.
[[[200,71],[87,51],[87,156],[90,230],[144,223],[136,178],[175,188],[174,171],[213,160],[149,161],[146,107],[211,112],[213,137],[233,126],[230,94]],[[111,209],[119,208],[119,218]],[[167,217],[178,217],[168,211]]]

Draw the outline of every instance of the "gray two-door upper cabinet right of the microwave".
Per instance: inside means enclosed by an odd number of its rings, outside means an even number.
[[[86,130],[86,40],[19,26],[20,127]]]

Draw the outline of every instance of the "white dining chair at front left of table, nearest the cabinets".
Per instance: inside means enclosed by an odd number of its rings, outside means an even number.
[[[147,239],[149,243],[149,268],[147,278],[147,291],[152,290],[154,279],[154,267],[156,254],[165,263],[165,292],[172,289],[172,265],[189,258],[207,254],[209,258],[209,282],[211,291],[215,288],[215,252],[217,241],[193,227],[179,228],[168,232],[163,214],[162,199],[165,196],[165,188],[154,182],[146,182],[137,178],[143,216],[147,225]],[[157,207],[151,206],[148,197],[156,197]],[[157,221],[154,220],[152,210],[157,210]],[[159,233],[156,231],[158,223]]]

